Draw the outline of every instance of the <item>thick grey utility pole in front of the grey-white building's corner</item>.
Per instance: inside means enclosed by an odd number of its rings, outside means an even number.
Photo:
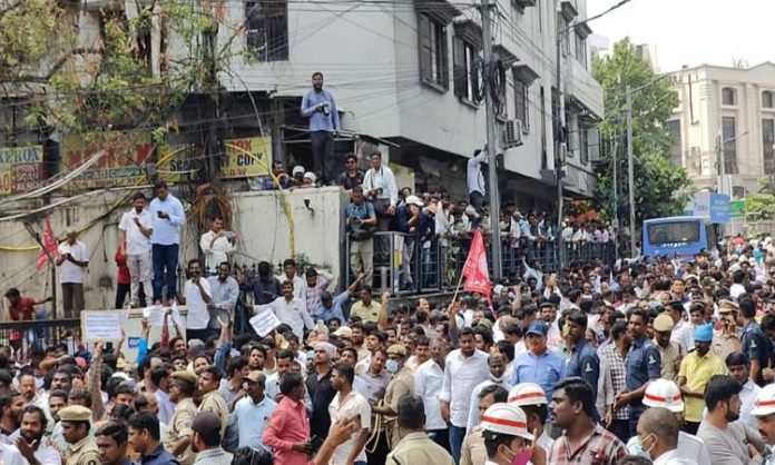
[[[492,76],[492,0],[482,0],[482,66],[484,78],[484,110],[487,112],[488,179],[490,184],[490,228],[492,229],[492,275],[496,280],[503,278],[500,239],[500,197],[498,194],[498,140],[496,139],[496,106],[492,101],[494,76]]]

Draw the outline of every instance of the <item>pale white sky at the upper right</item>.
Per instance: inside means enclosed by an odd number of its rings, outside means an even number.
[[[618,0],[587,0],[588,16]],[[630,0],[590,22],[612,47],[627,36],[657,47],[659,71],[708,63],[749,66],[775,62],[775,0]]]

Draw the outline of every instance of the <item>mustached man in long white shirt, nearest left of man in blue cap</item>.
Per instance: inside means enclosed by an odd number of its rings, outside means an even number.
[[[455,463],[465,437],[469,406],[473,388],[490,376],[487,354],[477,350],[473,329],[463,328],[458,335],[459,349],[452,350],[444,363],[444,383],[439,394],[441,416],[451,423],[450,449]],[[454,379],[454,382],[452,382]]]

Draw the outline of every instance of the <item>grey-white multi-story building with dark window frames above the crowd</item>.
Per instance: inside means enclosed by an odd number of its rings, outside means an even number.
[[[99,42],[106,10],[125,9],[130,18],[138,13],[137,4],[82,0],[73,17],[80,41]],[[230,49],[227,70],[218,76],[228,93],[220,100],[220,113],[227,115],[222,117],[227,123],[217,128],[223,139],[263,135],[265,141],[271,138],[273,158],[308,166],[300,106],[312,73],[321,71],[340,109],[340,157],[353,150],[353,141],[369,140],[401,168],[400,184],[467,194],[465,160],[485,141],[478,8],[447,0],[202,4],[217,8],[217,49]],[[526,208],[549,208],[556,200],[558,158],[565,160],[568,196],[591,197],[595,191],[591,162],[604,109],[602,90],[590,73],[586,10],[586,0],[497,1],[497,132],[518,120],[522,139],[499,161],[500,191]],[[154,24],[147,59],[159,72],[160,60],[174,60],[189,44]],[[200,102],[194,107],[180,110],[182,127],[194,126],[186,125],[187,118],[203,118]],[[185,130],[174,137],[185,138]]]

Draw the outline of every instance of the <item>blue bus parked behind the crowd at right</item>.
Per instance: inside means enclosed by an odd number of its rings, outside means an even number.
[[[645,257],[693,258],[716,248],[714,225],[706,218],[676,216],[644,221]]]

